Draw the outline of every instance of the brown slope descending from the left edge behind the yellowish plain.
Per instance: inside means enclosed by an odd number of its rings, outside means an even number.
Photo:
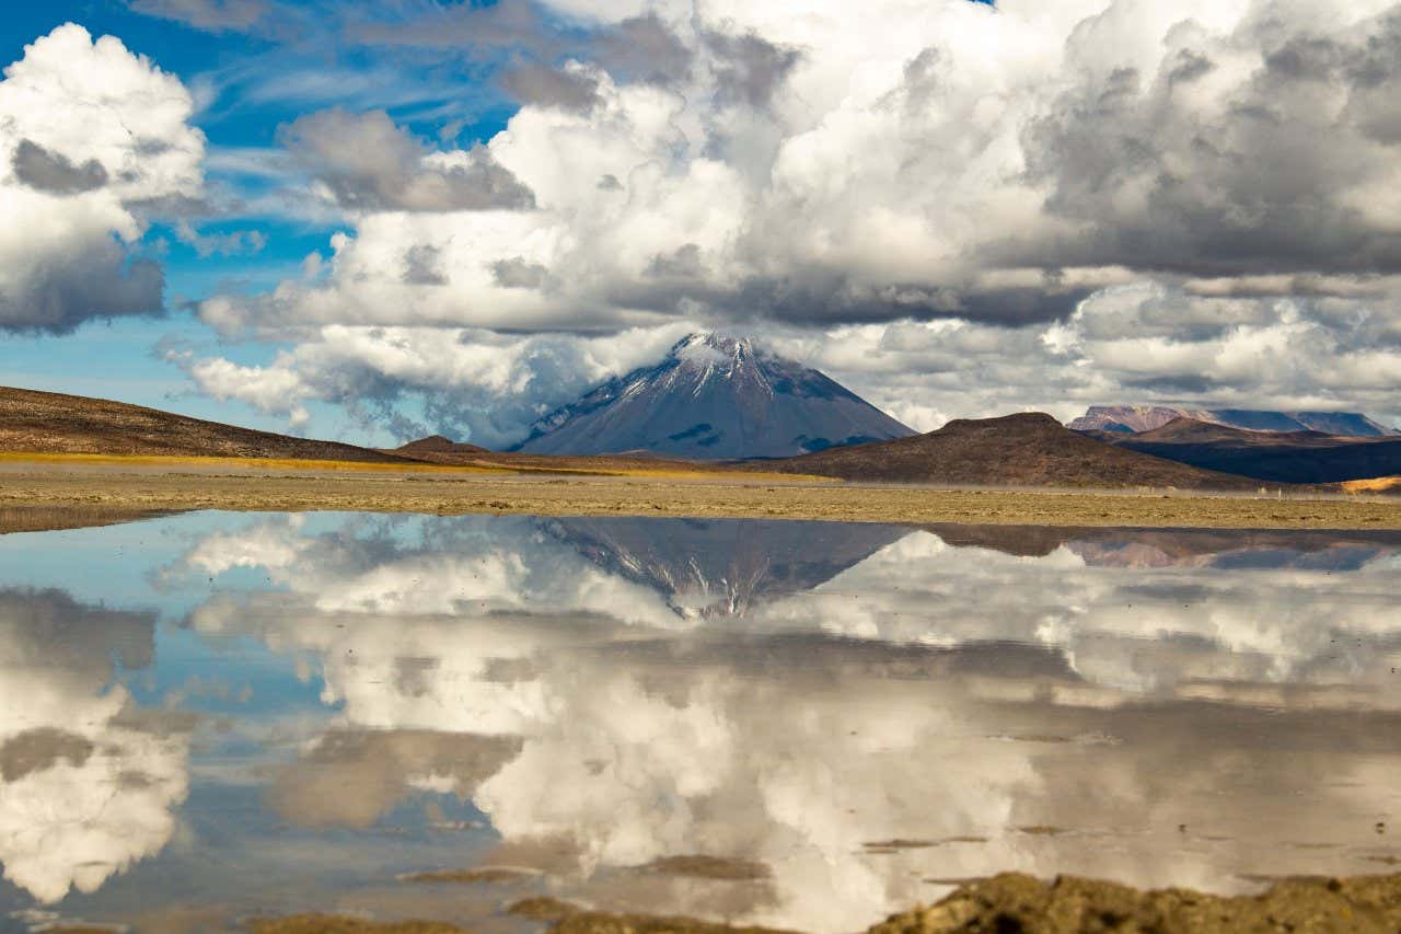
[[[259,432],[102,398],[8,387],[0,387],[0,452],[412,463],[354,445]]]

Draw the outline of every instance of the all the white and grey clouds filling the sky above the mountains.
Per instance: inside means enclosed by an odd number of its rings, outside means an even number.
[[[206,156],[191,91],[113,38],[60,27],[6,70],[0,199],[46,223],[0,233],[0,328],[158,311],[143,224],[254,158],[326,250],[195,306],[261,362],[165,355],[293,425],[319,401],[503,445],[696,327],[923,429],[1153,400],[1401,421],[1397,3],[132,6],[468,59],[516,101],[479,142],[363,97]]]

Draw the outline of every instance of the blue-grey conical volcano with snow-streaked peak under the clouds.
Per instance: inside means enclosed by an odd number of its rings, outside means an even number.
[[[514,450],[789,457],[915,432],[835,380],[747,339],[692,334],[654,366],[544,417]]]

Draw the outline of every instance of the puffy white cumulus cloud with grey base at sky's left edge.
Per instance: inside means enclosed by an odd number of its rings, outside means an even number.
[[[150,210],[202,194],[192,109],[177,77],[71,22],[4,69],[0,330],[161,311],[164,275],[133,247]]]

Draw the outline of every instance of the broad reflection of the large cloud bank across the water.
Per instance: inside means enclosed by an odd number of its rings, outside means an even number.
[[[296,555],[289,593],[221,595],[189,621],[319,656],[335,731],[443,743],[398,777],[394,753],[335,767],[367,799],[453,790],[507,841],[570,841],[566,889],[625,899],[604,869],[743,855],[772,868],[743,917],[852,928],[927,896],[930,861],[941,877],[1073,865],[1220,888],[1230,867],[1288,867],[1265,843],[1338,837],[1394,804],[1377,781],[1394,750],[1366,739],[1397,725],[1384,548],[1346,575],[1292,558],[1233,574],[1153,544],[1145,576],[1073,543],[1023,557],[911,532],[808,590],[769,597],[750,575],[740,620],[695,628],[658,583],[693,568],[590,554],[530,520],[455,522],[446,551],[374,562],[336,536],[273,547]],[[270,530],[298,534],[249,532]],[[312,766],[333,736],[280,774],[286,813],[336,819],[294,804],[321,797]],[[518,752],[461,770],[443,764],[454,736],[479,764],[483,743]],[[1171,837],[1180,825],[1226,840]],[[986,841],[864,847],[892,837]],[[703,912],[705,892],[667,907]]]

